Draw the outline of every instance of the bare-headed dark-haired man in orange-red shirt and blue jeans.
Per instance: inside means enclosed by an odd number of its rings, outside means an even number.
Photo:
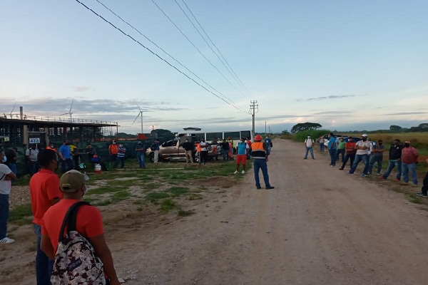
[[[49,285],[54,262],[40,249],[41,218],[53,204],[62,199],[59,177],[54,172],[58,167],[58,157],[54,150],[40,150],[37,160],[41,170],[30,180],[31,208],[33,210],[34,232],[37,238],[36,279],[37,285]]]

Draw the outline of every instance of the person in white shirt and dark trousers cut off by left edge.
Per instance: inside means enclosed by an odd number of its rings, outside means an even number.
[[[7,237],[7,220],[9,219],[11,180],[15,180],[16,175],[4,162],[6,162],[6,155],[0,151],[0,244],[11,244],[15,240]]]

